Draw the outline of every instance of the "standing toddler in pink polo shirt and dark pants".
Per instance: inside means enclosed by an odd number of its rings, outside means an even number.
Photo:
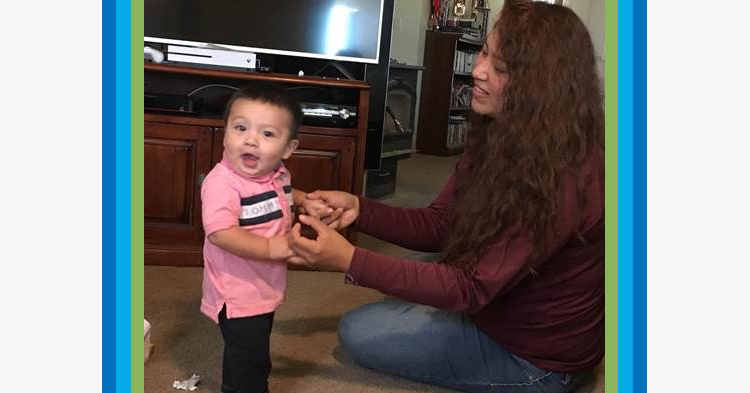
[[[222,160],[201,187],[201,311],[224,339],[223,393],[268,390],[269,337],[286,289],[294,201],[305,210],[325,209],[293,193],[282,163],[297,148],[301,119],[297,101],[275,86],[238,90],[224,113]]]

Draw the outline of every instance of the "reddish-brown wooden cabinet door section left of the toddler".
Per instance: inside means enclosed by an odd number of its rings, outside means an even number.
[[[145,122],[146,264],[200,265],[200,183],[211,170],[214,129]]]

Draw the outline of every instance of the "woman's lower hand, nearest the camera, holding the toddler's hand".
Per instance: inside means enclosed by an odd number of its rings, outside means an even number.
[[[315,270],[349,271],[354,246],[315,217],[300,215],[299,220],[309,225],[318,234],[318,238],[312,240],[303,237],[300,233],[301,225],[295,224],[289,234],[289,248],[296,256],[288,258],[287,262]]]

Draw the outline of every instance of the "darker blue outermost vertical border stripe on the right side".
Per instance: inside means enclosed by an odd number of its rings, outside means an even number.
[[[633,8],[633,387],[646,391],[646,1],[636,0]]]

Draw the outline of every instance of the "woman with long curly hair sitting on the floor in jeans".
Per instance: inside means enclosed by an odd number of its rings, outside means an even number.
[[[568,8],[506,0],[472,72],[476,116],[423,209],[343,192],[332,225],[420,251],[379,255],[310,216],[290,262],[401,300],[343,317],[363,367],[466,392],[569,392],[604,355],[604,114],[589,34]],[[341,211],[341,210],[339,210]]]

